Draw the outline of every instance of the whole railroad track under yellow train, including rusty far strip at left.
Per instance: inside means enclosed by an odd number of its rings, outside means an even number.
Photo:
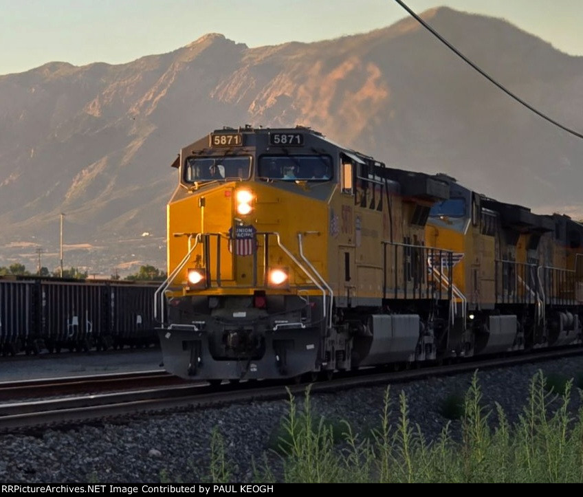
[[[333,379],[315,382],[310,388],[312,394],[331,393],[573,355],[583,355],[583,349],[540,351],[536,355],[496,357],[404,371],[371,368],[360,371],[358,375],[339,374]],[[288,399],[289,393],[303,395],[307,386],[305,383],[285,384],[270,380],[239,384],[223,382],[217,387],[204,382],[187,382],[160,371],[1,383],[0,433],[69,428],[111,419],[123,422],[133,419],[135,415],[220,407],[236,402]],[[25,398],[27,400],[17,401]]]

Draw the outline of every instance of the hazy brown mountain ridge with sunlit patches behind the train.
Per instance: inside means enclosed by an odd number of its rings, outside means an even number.
[[[421,16],[533,107],[583,128],[583,58],[501,19],[443,7]],[[253,48],[209,33],[120,65],[52,62],[0,76],[0,266],[32,269],[42,247],[54,269],[63,212],[65,265],[164,267],[176,153],[244,124],[302,124],[389,166],[448,173],[535,212],[583,212],[580,142],[414,19]]]

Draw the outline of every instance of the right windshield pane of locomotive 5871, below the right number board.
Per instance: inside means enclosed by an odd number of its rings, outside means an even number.
[[[332,178],[329,155],[263,155],[257,176],[265,179],[328,181]]]

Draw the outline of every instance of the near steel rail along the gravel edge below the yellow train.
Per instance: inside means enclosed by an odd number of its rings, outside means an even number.
[[[29,402],[0,404],[0,433],[35,429],[63,428],[84,423],[104,421],[111,417],[129,421],[135,415],[191,412],[198,408],[213,408],[234,403],[289,399],[289,395],[304,395],[309,386],[311,394],[337,393],[349,388],[382,386],[420,381],[428,377],[457,375],[476,370],[511,367],[518,364],[553,360],[559,357],[583,355],[580,347],[540,351],[529,355],[509,355],[478,362],[456,362],[431,367],[379,371],[363,369],[357,375],[338,374],[333,379],[315,383],[223,382],[213,387],[207,384],[187,384],[150,388],[102,395],[44,399]]]

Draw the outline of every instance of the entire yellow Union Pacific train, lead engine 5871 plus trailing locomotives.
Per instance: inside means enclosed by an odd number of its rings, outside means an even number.
[[[309,379],[582,342],[583,226],[386,166],[313,129],[217,129],[179,151],[164,366]]]

